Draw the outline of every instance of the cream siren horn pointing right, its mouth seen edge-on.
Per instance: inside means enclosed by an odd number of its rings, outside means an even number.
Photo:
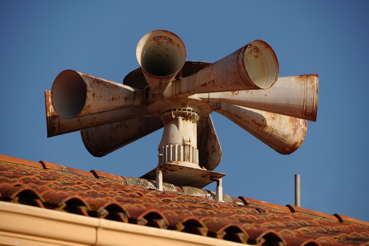
[[[316,121],[318,74],[279,77],[273,87],[265,90],[206,93],[198,97]]]

